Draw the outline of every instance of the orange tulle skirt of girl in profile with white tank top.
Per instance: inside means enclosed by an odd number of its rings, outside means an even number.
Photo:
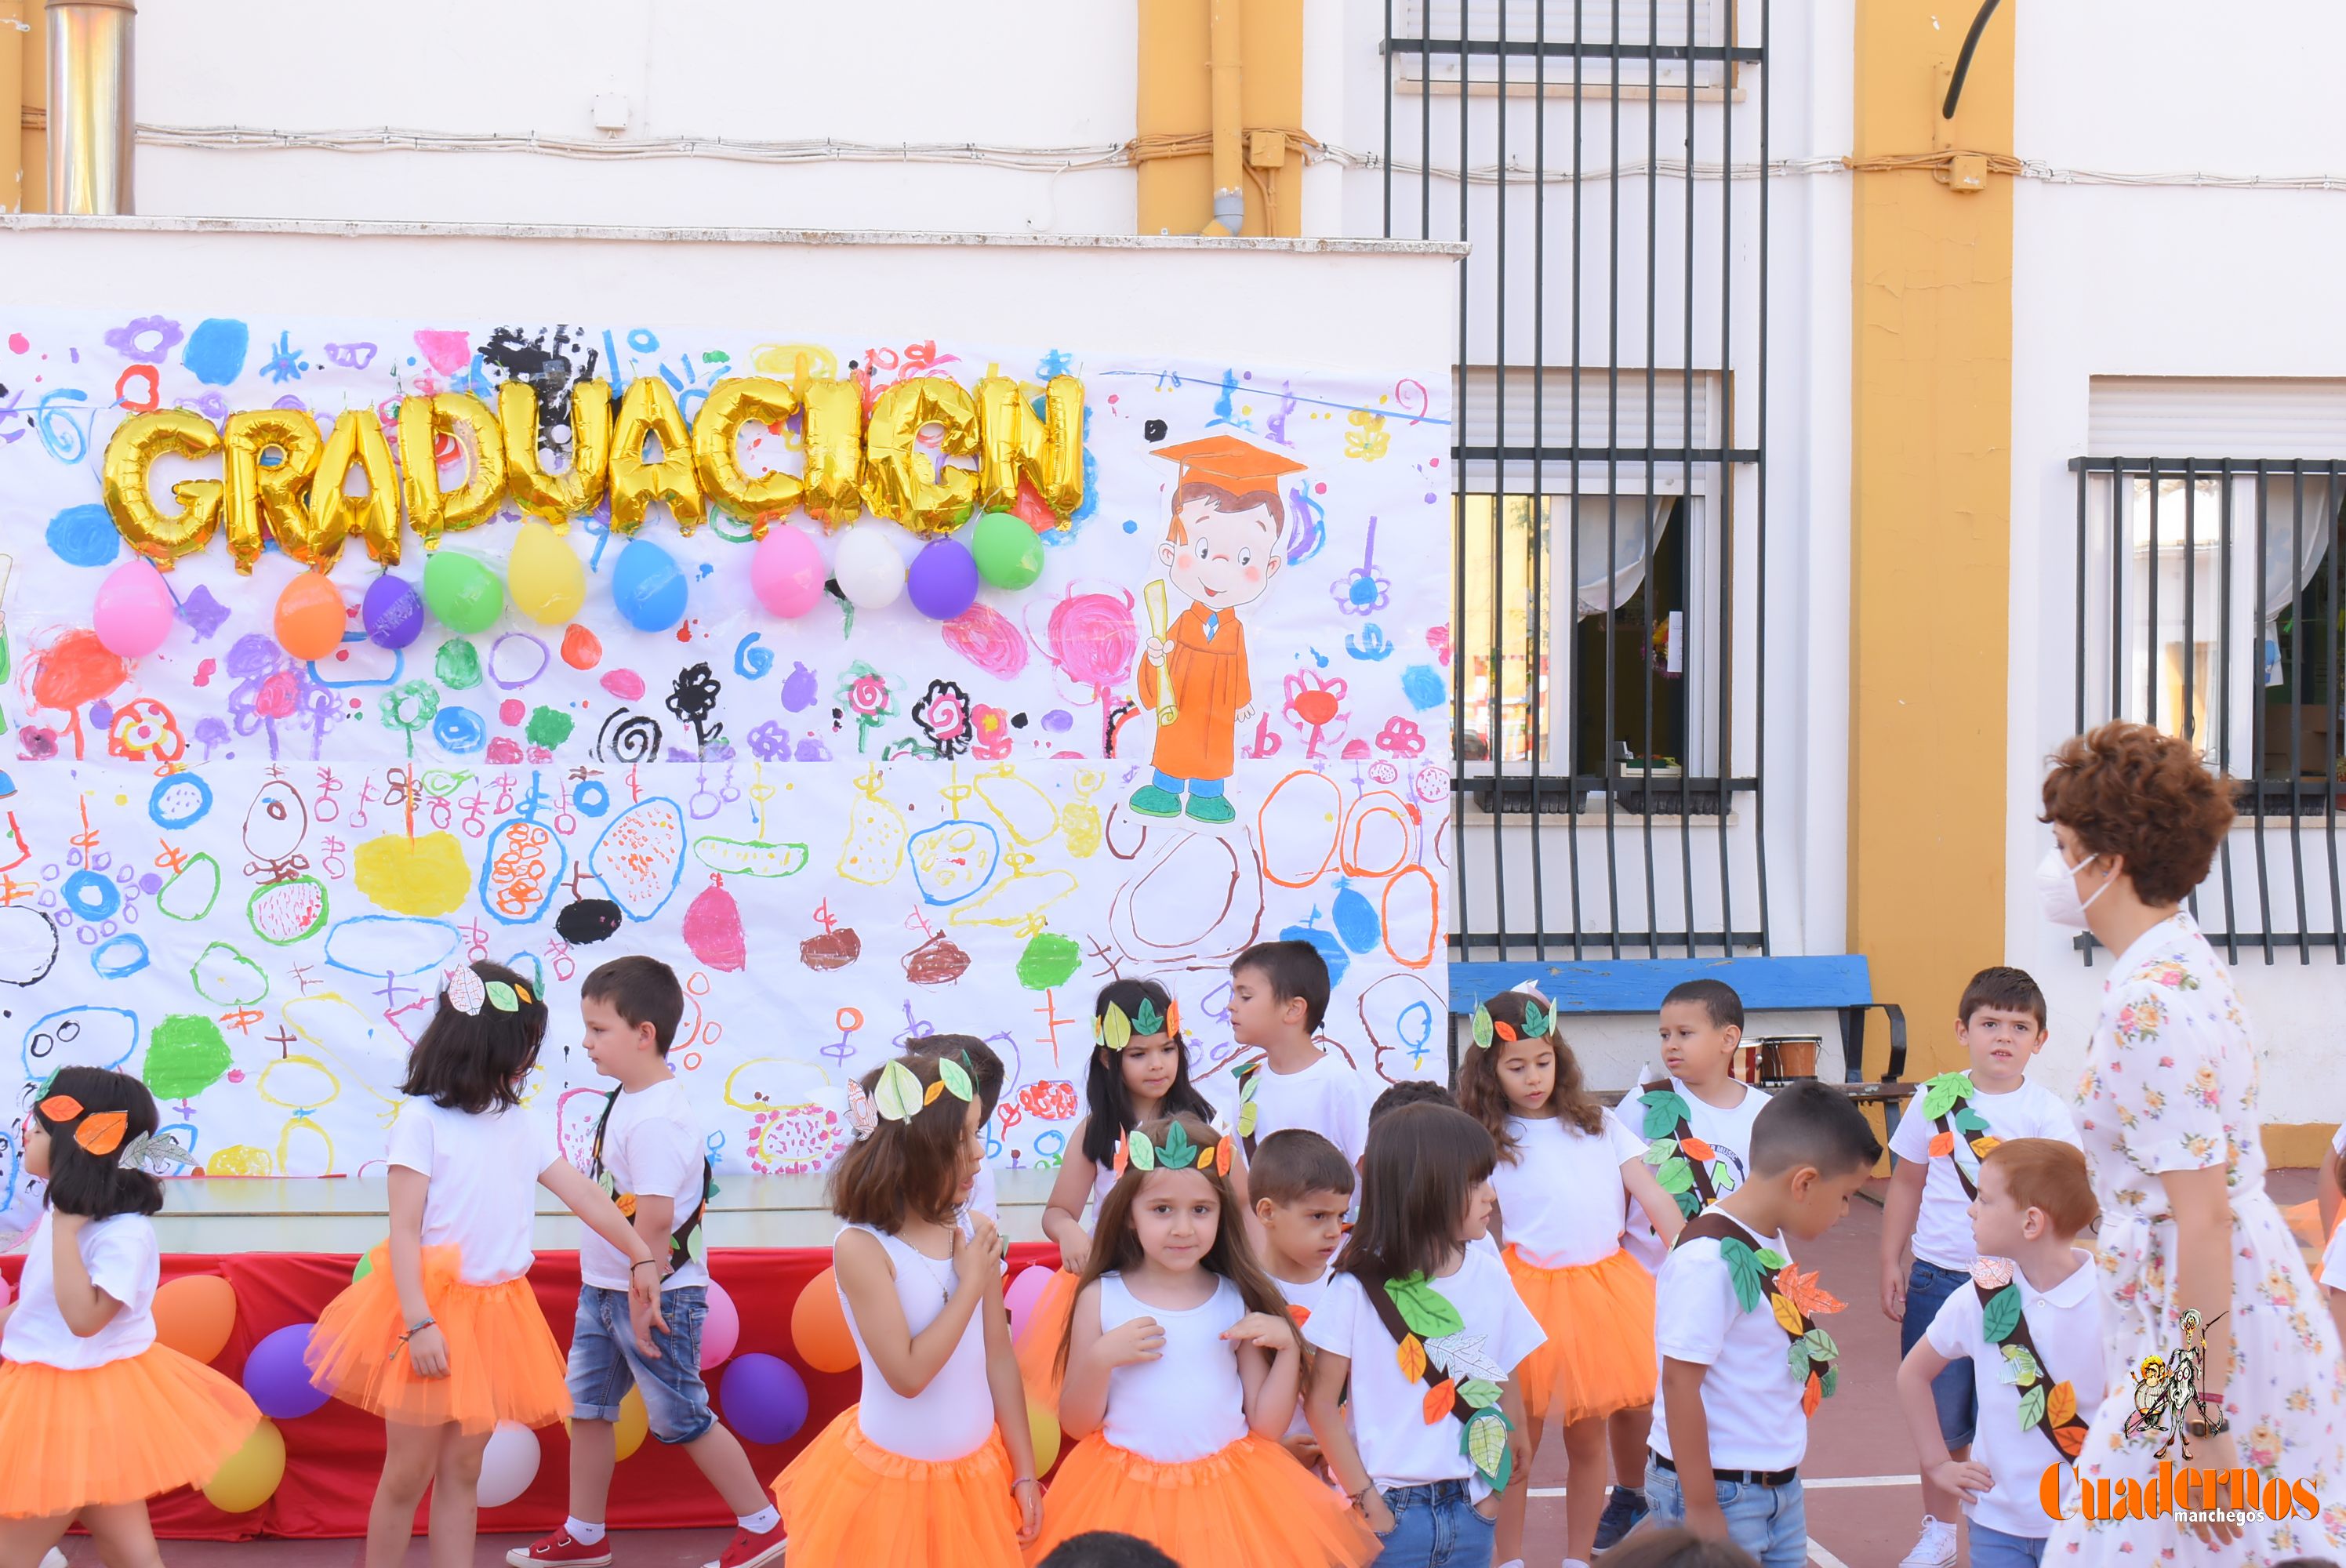
[[[992,1432],[957,1460],[908,1460],[840,1411],[774,1479],[791,1568],[1018,1568],[1011,1455]]]

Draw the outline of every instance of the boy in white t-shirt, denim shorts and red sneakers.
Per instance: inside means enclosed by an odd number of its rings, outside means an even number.
[[[701,1383],[701,1322],[708,1265],[701,1221],[716,1192],[708,1145],[685,1087],[669,1073],[669,1045],[685,1016],[685,988],[657,958],[615,958],[579,988],[586,1056],[619,1080],[596,1124],[594,1169],[657,1258],[666,1258],[662,1310],[669,1331],[645,1359],[624,1333],[626,1258],[596,1235],[579,1237],[579,1314],[570,1331],[570,1516],[528,1547],[504,1554],[535,1563],[608,1563],[605,1507],[617,1465],[619,1401],[643,1394],[652,1437],[692,1455],[734,1512],[739,1530],[720,1568],[758,1568],[781,1556],[781,1512],[758,1481],[741,1441],[718,1425]]]

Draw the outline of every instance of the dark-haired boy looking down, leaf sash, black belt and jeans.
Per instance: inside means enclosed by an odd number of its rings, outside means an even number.
[[[1849,1214],[1879,1157],[1846,1096],[1790,1084],[1752,1120],[1743,1185],[1680,1230],[1654,1286],[1656,1523],[1734,1540],[1762,1568],[1809,1561],[1806,1418],[1839,1383],[1839,1347],[1813,1317],[1842,1303],[1792,1265],[1790,1239],[1813,1242]]]

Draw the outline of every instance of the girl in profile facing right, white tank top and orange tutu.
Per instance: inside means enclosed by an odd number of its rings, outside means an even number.
[[[1018,1568],[1042,1528],[1002,1310],[1006,1246],[969,1209],[985,1160],[976,1059],[924,1042],[847,1094],[830,1244],[863,1399],[774,1481],[791,1568]],[[971,1042],[976,1045],[976,1042]]]

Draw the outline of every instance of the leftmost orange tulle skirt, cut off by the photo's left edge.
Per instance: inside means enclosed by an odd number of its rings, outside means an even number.
[[[0,1364],[0,1516],[202,1486],[258,1425],[242,1387],[169,1345],[80,1371]]]

